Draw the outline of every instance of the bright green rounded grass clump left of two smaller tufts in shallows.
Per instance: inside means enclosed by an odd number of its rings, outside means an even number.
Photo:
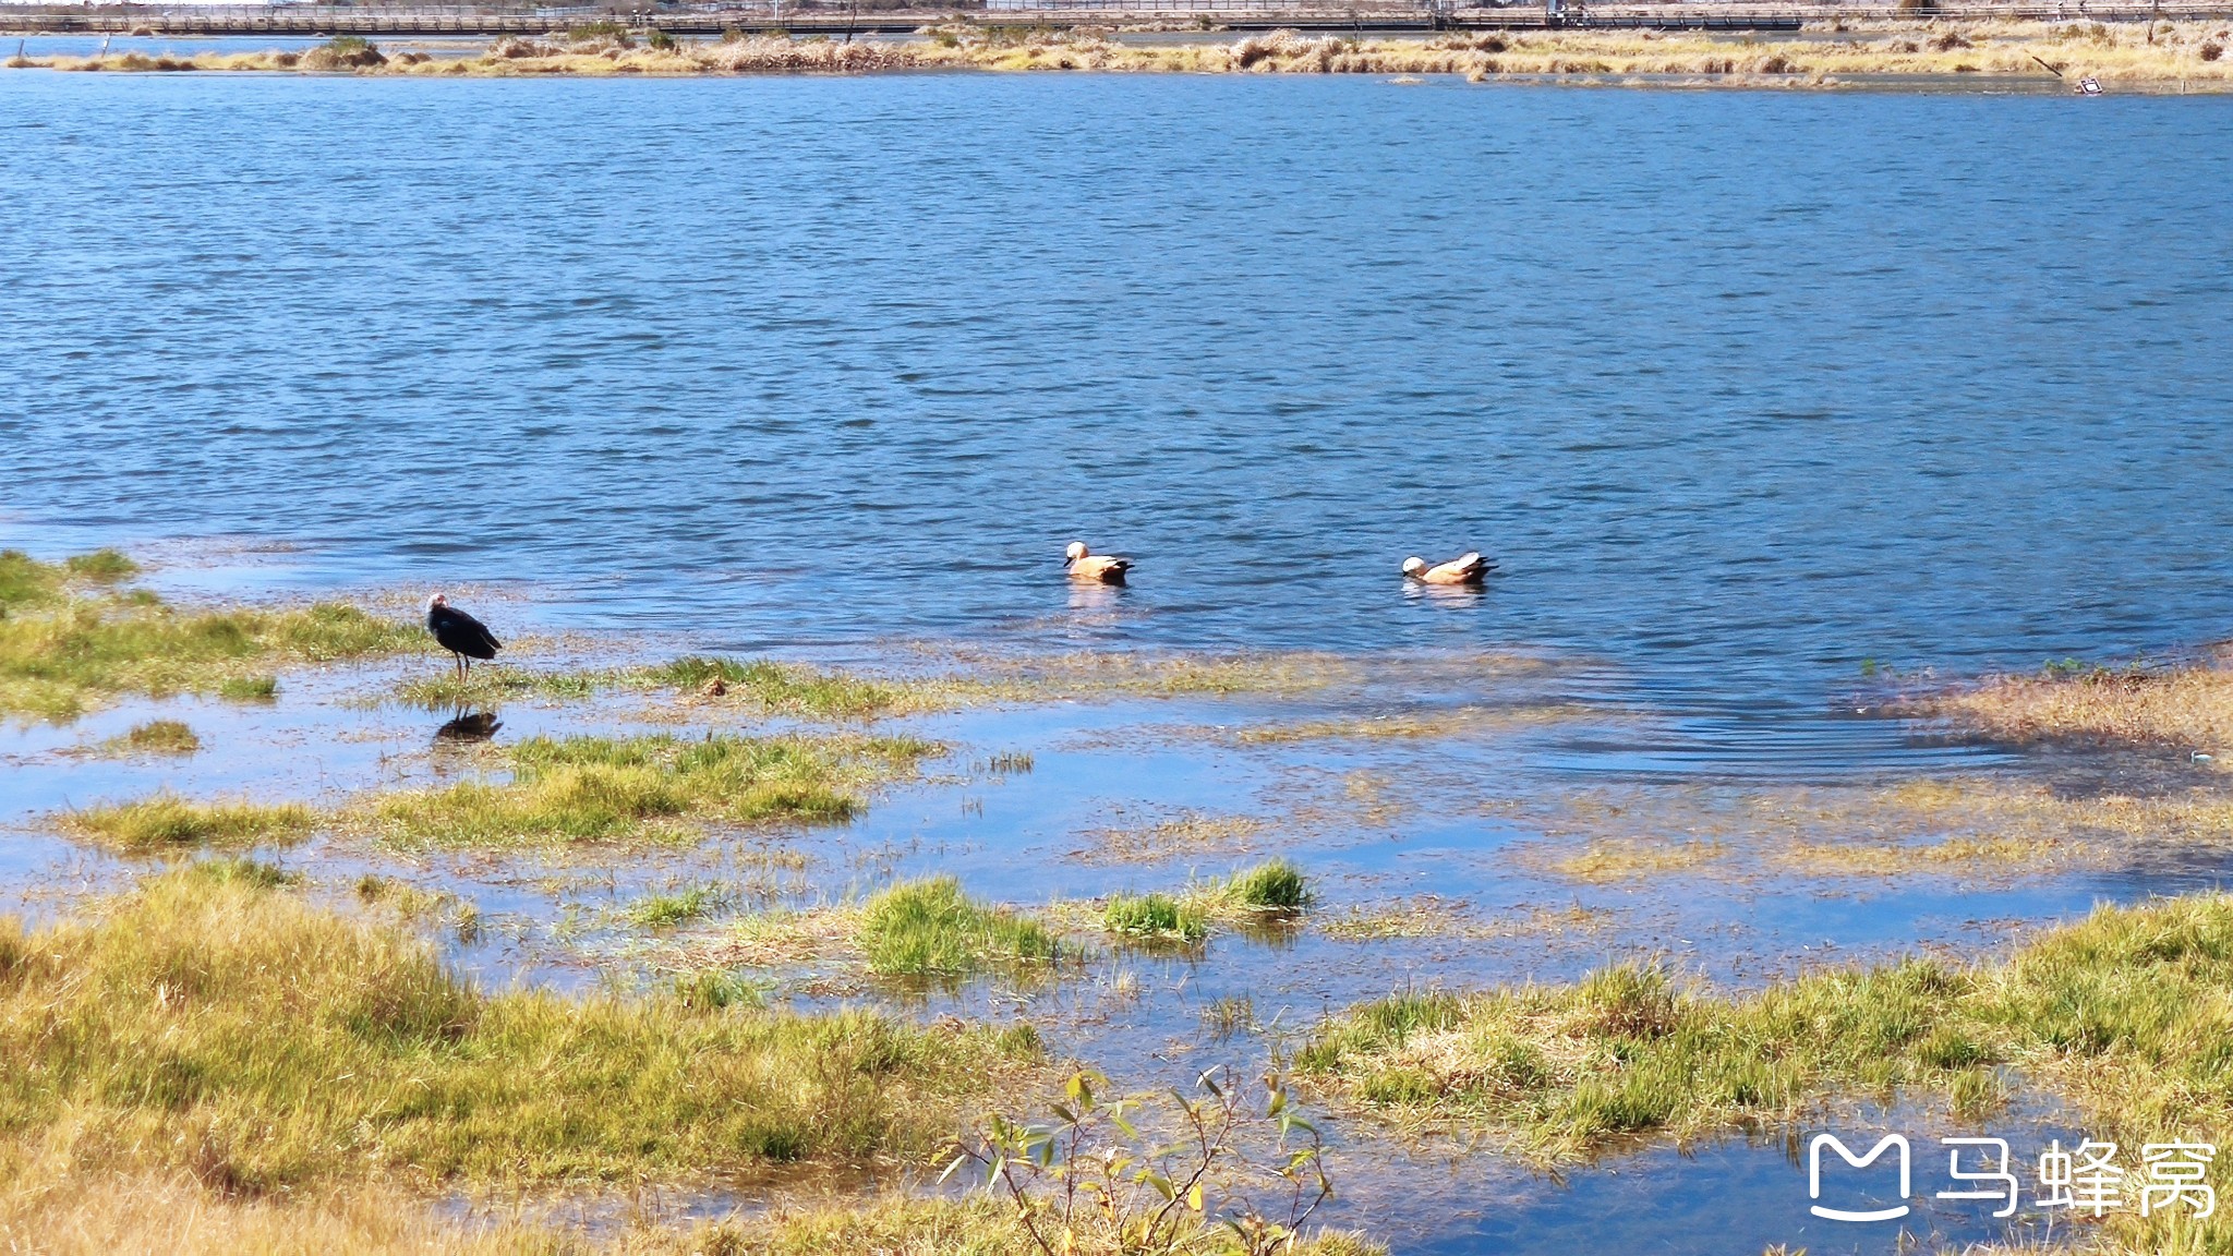
[[[869,970],[887,977],[967,977],[1063,957],[1045,925],[971,901],[951,876],[907,881],[869,898],[853,941]]]

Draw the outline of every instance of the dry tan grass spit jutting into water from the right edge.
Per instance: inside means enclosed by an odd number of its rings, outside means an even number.
[[[2072,738],[2233,749],[2233,670],[2215,666],[1999,675],[1900,708],[2010,742]]]

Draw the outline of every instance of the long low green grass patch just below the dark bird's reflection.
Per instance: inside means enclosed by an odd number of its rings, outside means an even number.
[[[467,780],[368,807],[397,843],[686,840],[690,822],[842,822],[864,791],[940,753],[920,738],[534,738],[509,782]]]

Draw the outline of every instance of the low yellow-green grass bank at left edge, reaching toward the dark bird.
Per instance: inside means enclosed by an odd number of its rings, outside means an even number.
[[[67,720],[123,693],[270,697],[275,664],[427,648],[411,624],[330,601],[172,608],[118,588],[134,572],[114,550],[65,563],[0,552],[0,713]]]

